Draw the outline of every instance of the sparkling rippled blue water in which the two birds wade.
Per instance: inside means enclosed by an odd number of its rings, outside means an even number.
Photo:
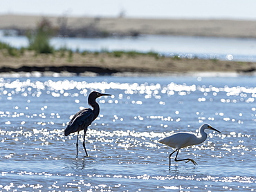
[[[38,77],[0,79],[1,191],[255,191],[256,77]],[[71,115],[100,115],[82,133],[64,136]],[[208,123],[221,133],[183,148],[157,142]]]

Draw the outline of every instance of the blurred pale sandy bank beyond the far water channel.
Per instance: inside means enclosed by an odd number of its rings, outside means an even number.
[[[44,16],[45,17],[45,16]],[[54,28],[61,28],[63,18],[46,17]],[[0,15],[0,29],[33,29],[42,16]],[[110,33],[138,32],[151,35],[183,35],[201,37],[256,38],[256,21],[186,20],[186,19],[131,19],[67,17],[69,28],[91,27]]]

